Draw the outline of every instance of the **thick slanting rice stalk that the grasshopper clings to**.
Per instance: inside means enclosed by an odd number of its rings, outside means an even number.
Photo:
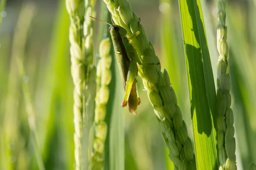
[[[112,14],[113,22],[127,31],[128,38],[139,31],[139,19],[131,12],[127,0],[104,0]],[[142,63],[160,62],[155,55],[153,45],[148,41],[143,26],[140,34],[130,40]],[[163,138],[169,149],[169,158],[179,169],[196,168],[192,141],[188,137],[187,127],[177,105],[177,98],[171,86],[166,70],[160,71],[160,65],[138,65],[138,72],[148,93],[149,101],[154,108]]]

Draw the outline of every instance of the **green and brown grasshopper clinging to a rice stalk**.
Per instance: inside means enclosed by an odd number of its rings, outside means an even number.
[[[99,20],[94,17],[91,18]],[[99,21],[106,23],[102,20]],[[138,26],[140,26],[139,23]],[[140,97],[136,87],[136,77],[138,75],[137,63],[139,65],[154,65],[154,63],[142,64],[137,53],[134,52],[134,47],[129,43],[129,40],[140,34],[140,31],[137,31],[131,37],[127,37],[125,28],[115,24],[106,24],[110,25],[108,31],[111,34],[116,60],[122,77],[123,87],[125,89],[125,96],[121,106],[126,107],[128,105],[129,111],[136,115],[137,107],[140,105]]]

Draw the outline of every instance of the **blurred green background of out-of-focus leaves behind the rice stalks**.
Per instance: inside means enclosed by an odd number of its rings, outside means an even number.
[[[129,2],[132,11],[141,18],[162,69],[166,68],[169,73],[189,136],[193,139],[178,1]],[[201,3],[216,77],[217,2],[202,0]],[[231,108],[235,116],[239,170],[248,169],[251,161],[256,162],[255,8],[255,0],[232,0],[227,5]],[[97,1],[98,18],[99,9]],[[7,0],[0,15],[3,17],[0,30],[0,169],[73,169],[73,80],[68,41],[70,21],[65,1]],[[99,45],[98,25],[95,22],[95,57]],[[112,113],[108,113],[107,119],[112,123],[108,125],[111,128],[119,121],[111,122],[111,115],[124,116],[125,155],[118,159],[125,161],[119,166],[126,170],[173,169],[142,80],[138,78],[137,83],[142,103],[134,116],[120,106],[118,98],[122,99],[124,92],[118,88],[122,83],[118,70],[114,75],[111,83],[113,104],[108,105]],[[108,142],[113,144],[113,141]]]

